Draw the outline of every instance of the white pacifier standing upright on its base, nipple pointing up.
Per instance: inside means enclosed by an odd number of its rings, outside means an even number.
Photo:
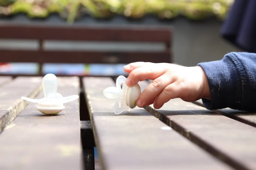
[[[28,97],[21,97],[29,102],[38,103],[36,106],[43,114],[58,114],[65,106],[63,103],[71,102],[76,100],[78,95],[71,95],[68,97],[62,97],[60,93],[57,93],[58,89],[58,78],[54,74],[47,74],[42,80],[44,98],[42,99],[31,99]]]

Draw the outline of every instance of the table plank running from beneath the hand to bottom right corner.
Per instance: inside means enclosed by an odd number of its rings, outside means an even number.
[[[236,169],[256,169],[256,128],[179,98],[145,109]]]

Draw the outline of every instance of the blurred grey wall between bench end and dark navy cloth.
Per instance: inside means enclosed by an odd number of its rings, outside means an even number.
[[[222,59],[232,51],[240,51],[220,36],[220,21],[192,22],[179,19],[172,25],[174,61],[178,64],[194,66],[199,62]]]

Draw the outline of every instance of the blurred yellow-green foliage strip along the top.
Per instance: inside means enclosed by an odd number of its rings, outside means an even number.
[[[45,18],[50,13],[73,22],[84,14],[111,18],[115,14],[141,18],[153,14],[160,19],[183,15],[191,20],[210,16],[224,19],[234,0],[0,0],[0,15],[26,13]]]

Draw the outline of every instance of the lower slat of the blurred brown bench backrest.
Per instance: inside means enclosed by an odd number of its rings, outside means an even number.
[[[0,50],[1,62],[36,63],[132,63],[171,62],[170,52],[82,52],[82,51],[27,51]],[[36,57],[35,57],[36,56]],[[157,57],[156,57],[157,56]]]

